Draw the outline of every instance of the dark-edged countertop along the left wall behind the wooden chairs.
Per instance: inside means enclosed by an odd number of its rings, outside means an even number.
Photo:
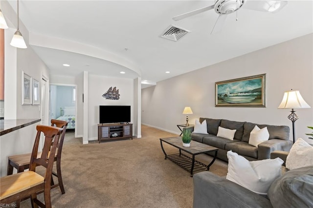
[[[27,125],[40,122],[41,119],[3,119],[0,120],[0,136],[18,130]]]

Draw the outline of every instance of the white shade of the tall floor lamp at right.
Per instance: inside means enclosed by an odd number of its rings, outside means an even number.
[[[304,101],[299,90],[291,90],[285,92],[278,108],[310,108],[310,105]]]

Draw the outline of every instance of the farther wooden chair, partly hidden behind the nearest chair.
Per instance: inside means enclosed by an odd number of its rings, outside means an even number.
[[[67,129],[67,122],[61,120],[51,119],[51,126],[56,126],[63,128],[62,135],[59,140],[59,144],[57,146],[56,155],[54,157],[54,161],[56,161],[57,172],[52,171],[52,175],[58,178],[58,184],[54,184],[53,178],[51,178],[51,188],[60,187],[62,194],[65,193],[62,174],[61,174],[61,154],[62,147],[65,137],[65,132]],[[41,152],[38,152],[38,157],[40,157]],[[13,167],[15,167],[18,173],[23,172],[25,169],[29,168],[31,153],[21,154],[21,155],[13,155],[8,157],[8,166],[7,166],[7,175],[13,174]]]

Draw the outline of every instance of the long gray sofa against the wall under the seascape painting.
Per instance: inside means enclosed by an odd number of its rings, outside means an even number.
[[[192,133],[192,140],[219,148],[217,157],[224,161],[228,161],[226,154],[229,150],[242,155],[247,160],[253,161],[268,159],[270,158],[270,153],[275,150],[289,151],[292,146],[292,141],[289,140],[290,128],[286,125],[259,125],[225,119],[199,119],[200,123],[204,120],[206,120],[208,134]],[[269,133],[269,140],[259,144],[258,147],[248,144],[250,132],[255,125],[258,125],[259,128],[267,126]],[[219,126],[237,129],[234,140],[217,137]],[[193,128],[193,126],[190,128]]]

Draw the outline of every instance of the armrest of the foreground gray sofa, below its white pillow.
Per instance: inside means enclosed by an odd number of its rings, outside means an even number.
[[[194,208],[271,208],[270,201],[245,187],[204,171],[193,176]]]

